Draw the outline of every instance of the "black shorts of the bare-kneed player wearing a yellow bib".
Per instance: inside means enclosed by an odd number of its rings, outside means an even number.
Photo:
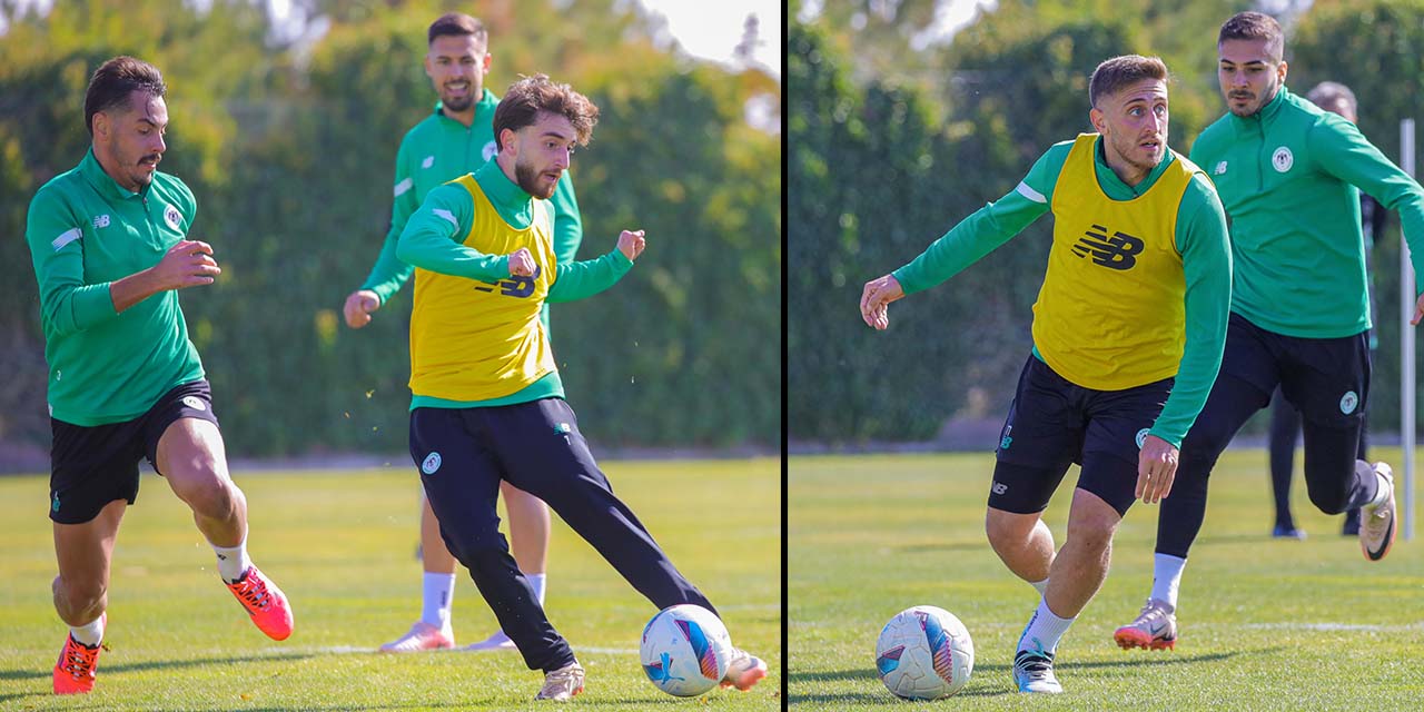
[[[1078,488],[1126,514],[1136,498],[1142,439],[1162,413],[1172,382],[1085,389],[1030,355],[1000,436],[988,506],[1017,514],[1044,511],[1077,463]]]

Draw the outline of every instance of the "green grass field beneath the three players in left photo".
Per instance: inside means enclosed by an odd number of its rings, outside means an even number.
[[[615,491],[718,605],[732,641],[772,674],[750,692],[679,701],[646,681],[638,637],[655,609],[555,517],[547,609],[588,672],[575,705],[598,709],[779,709],[780,467],[776,460],[609,461]],[[296,631],[263,637],[222,588],[212,550],[157,476],[120,531],[111,648],[84,698],[50,693],[66,628],[50,601],[47,480],[0,477],[0,709],[547,709],[518,654],[375,649],[420,615],[413,467],[235,474],[253,560],[286,591]],[[494,617],[461,570],[456,642]]]

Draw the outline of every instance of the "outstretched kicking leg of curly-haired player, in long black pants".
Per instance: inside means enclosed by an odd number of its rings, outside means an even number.
[[[693,604],[716,614],[702,591],[672,565],[632,510],[614,496],[568,403],[543,399],[500,412],[491,414],[490,422],[500,429],[497,441],[501,460],[510,463],[507,478],[511,484],[548,503],[656,608]],[[722,685],[750,689],[765,676],[765,662],[733,649]]]

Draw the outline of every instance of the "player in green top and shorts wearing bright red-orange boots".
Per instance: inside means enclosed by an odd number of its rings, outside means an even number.
[[[40,283],[50,366],[54,608],[70,627],[54,692],[94,689],[114,540],[148,459],[192,508],[218,575],[272,639],[292,634],[282,590],[248,558],[248,504],[226,454],[178,289],[222,273],[189,239],[192,191],[158,171],[167,87],[132,57],[105,61],[84,95],[93,144],[30,202],[26,241]]]

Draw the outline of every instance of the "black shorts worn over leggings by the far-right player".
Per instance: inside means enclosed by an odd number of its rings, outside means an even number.
[[[1283,336],[1232,312],[1222,373],[1260,389],[1262,407],[1280,386],[1304,420],[1351,427],[1364,417],[1370,392],[1370,332],[1339,339]]]

